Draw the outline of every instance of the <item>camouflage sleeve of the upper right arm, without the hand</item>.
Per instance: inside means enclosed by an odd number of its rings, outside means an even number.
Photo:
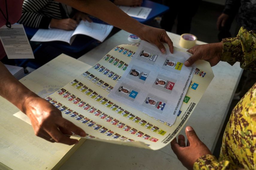
[[[224,38],[222,43],[221,61],[238,61],[242,69],[256,70],[256,33],[254,31],[241,27],[237,37]]]

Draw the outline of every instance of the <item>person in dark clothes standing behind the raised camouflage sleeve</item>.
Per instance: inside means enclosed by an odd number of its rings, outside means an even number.
[[[226,0],[224,10],[217,20],[217,29],[219,30],[218,39],[231,37],[231,24],[236,17],[237,33],[240,27],[247,30],[256,30],[256,1],[255,0]],[[232,35],[236,36],[236,35]],[[240,99],[247,90],[256,82],[256,72],[244,70],[234,99]]]

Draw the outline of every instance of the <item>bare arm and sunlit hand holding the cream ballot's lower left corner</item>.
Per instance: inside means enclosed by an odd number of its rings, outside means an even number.
[[[72,135],[74,132],[77,135],[85,136],[85,132],[81,128],[62,118],[60,110],[31,92],[14,78],[1,62],[0,73],[0,95],[30,118],[35,135],[50,142],[68,145],[78,143],[78,141],[70,139],[63,133]],[[51,138],[53,140],[50,140]]]

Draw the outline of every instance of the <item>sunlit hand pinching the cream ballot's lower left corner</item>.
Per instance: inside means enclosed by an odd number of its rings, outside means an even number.
[[[78,143],[78,140],[71,139],[65,134],[85,136],[81,128],[62,118],[60,110],[37,95],[26,99],[24,111],[31,121],[35,135],[49,142],[73,145]]]

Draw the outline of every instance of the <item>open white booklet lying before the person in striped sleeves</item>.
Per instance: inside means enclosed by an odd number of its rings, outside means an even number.
[[[75,30],[66,31],[61,29],[39,29],[30,41],[64,41],[70,45],[75,40],[76,35],[82,34],[90,36],[96,40],[104,41],[113,29],[112,25],[99,24],[95,22],[80,21]]]

